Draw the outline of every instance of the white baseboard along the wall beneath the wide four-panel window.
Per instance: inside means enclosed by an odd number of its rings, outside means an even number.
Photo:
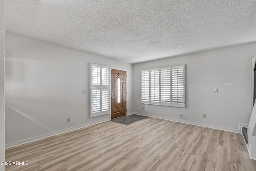
[[[184,120],[180,120],[180,119],[173,119],[173,118],[168,118],[168,117],[150,115],[150,114],[145,114],[145,113],[137,113],[137,112],[133,112],[132,114],[143,115],[143,116],[148,116],[148,117],[154,117],[154,118],[164,119],[164,120],[168,120],[168,121],[175,121],[175,122],[187,123],[187,124],[190,124],[190,125],[197,125],[197,126],[208,127],[208,128],[213,128],[213,129],[220,129],[220,130],[223,130],[223,131],[230,131],[230,132],[240,133],[240,132],[238,131],[238,129],[231,129],[231,128],[226,128],[226,127],[219,127],[219,126],[208,125],[208,124],[204,124],[204,123],[197,123],[197,122],[191,122],[191,121],[184,121]]]

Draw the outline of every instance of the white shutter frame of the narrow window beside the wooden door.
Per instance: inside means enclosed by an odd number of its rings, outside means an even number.
[[[100,67],[100,85],[93,85],[92,84],[92,67]],[[102,85],[102,68],[107,68],[108,69],[108,85]],[[100,91],[100,111],[99,112],[92,112],[92,90],[99,89],[107,89],[108,90],[108,110],[102,111],[102,91]],[[111,104],[110,104],[110,67],[109,66],[104,66],[100,64],[90,64],[90,117],[96,117],[96,116],[101,116],[101,115],[107,115],[110,114],[110,109],[111,109]]]

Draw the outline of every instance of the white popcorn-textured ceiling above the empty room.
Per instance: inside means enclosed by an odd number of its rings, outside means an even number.
[[[5,0],[6,31],[137,63],[256,41],[256,0]]]

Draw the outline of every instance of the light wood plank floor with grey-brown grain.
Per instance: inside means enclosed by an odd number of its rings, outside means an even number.
[[[242,135],[156,118],[108,121],[6,149],[6,171],[256,171]]]

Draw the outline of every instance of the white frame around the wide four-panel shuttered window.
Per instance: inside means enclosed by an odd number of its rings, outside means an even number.
[[[173,68],[179,68],[179,67],[183,67],[183,103],[175,103],[172,101],[172,69]],[[171,95],[170,95],[170,102],[162,102],[161,101],[161,70],[162,69],[166,69],[166,68],[170,68],[170,92],[171,92]],[[150,71],[151,70],[159,70],[159,102],[155,102],[155,101],[151,101],[150,99],[150,95],[151,95],[151,91],[150,91]],[[145,100],[142,100],[142,72],[146,72],[146,71],[149,71],[149,101],[145,101]],[[147,69],[147,70],[142,70],[141,71],[141,74],[140,74],[140,84],[141,84],[141,92],[140,92],[140,96],[141,96],[141,103],[142,104],[151,104],[151,105],[162,105],[162,106],[171,106],[171,107],[183,107],[185,108],[186,107],[186,67],[185,67],[185,64],[184,65],[177,65],[177,66],[167,66],[167,67],[162,67],[162,68],[151,68],[151,69]]]

